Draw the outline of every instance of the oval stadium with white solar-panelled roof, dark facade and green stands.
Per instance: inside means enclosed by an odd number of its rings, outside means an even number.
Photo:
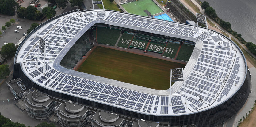
[[[25,37],[15,55],[13,79],[21,78],[27,88],[49,96],[130,119],[171,127],[214,127],[243,107],[251,83],[239,47],[216,31],[209,34],[203,27],[197,33],[196,26],[123,12],[74,10],[42,23]],[[187,62],[185,89],[183,82],[175,82],[170,97],[170,89],[152,89],[73,70],[94,48],[90,37],[109,47],[147,50]],[[42,40],[46,55],[40,48]],[[140,122],[132,126],[138,124],[142,126]]]

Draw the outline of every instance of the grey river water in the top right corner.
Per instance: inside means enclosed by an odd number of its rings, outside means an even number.
[[[215,9],[218,17],[231,23],[245,41],[256,44],[256,0],[203,0]],[[202,1],[202,2],[203,2]]]

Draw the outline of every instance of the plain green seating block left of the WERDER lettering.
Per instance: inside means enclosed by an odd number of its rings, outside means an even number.
[[[115,46],[121,30],[110,29],[109,27],[97,27],[97,42]]]

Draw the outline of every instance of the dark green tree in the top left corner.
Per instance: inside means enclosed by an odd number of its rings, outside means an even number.
[[[0,13],[7,15],[14,15],[18,4],[14,0],[0,0]]]

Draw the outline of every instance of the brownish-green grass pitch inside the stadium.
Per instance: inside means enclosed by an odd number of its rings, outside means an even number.
[[[185,65],[98,46],[78,71],[166,90],[170,88],[170,69],[181,67]]]

